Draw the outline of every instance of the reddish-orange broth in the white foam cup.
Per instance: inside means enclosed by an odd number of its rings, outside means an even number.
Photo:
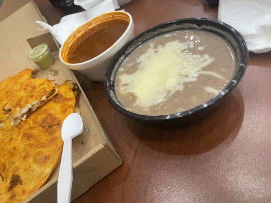
[[[67,62],[80,63],[98,56],[123,35],[128,24],[125,20],[115,19],[89,29],[70,52]]]

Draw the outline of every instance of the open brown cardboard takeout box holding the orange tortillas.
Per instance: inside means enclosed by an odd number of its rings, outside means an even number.
[[[31,46],[47,42],[52,51],[56,51],[53,52],[56,62],[50,69],[40,71],[38,77],[55,79],[58,84],[66,80],[78,83],[73,72],[58,60],[57,46],[51,35],[44,30],[37,30],[39,25],[35,23],[36,20],[44,19],[36,5],[29,0],[6,0],[0,8],[0,81],[26,67],[36,69],[37,65],[28,61],[26,55]],[[83,91],[77,111],[82,116],[84,131],[73,139],[72,200],[122,163]],[[24,202],[56,202],[58,170]]]

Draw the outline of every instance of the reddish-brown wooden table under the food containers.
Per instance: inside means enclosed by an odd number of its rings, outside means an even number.
[[[63,16],[35,2],[50,24]],[[135,34],[178,18],[217,18],[200,0],[134,0],[123,8]],[[271,202],[270,78],[270,53],[250,54],[242,82],[219,109],[178,129],[138,124],[109,105],[101,83],[82,84],[123,165],[74,203]]]

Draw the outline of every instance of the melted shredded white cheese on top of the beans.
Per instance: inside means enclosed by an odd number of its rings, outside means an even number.
[[[137,71],[119,76],[120,91],[135,94],[133,106],[147,109],[176,91],[182,91],[185,83],[197,81],[200,74],[224,79],[215,72],[202,70],[215,59],[208,54],[192,54],[187,50],[192,46],[191,42],[181,43],[178,40],[157,48],[150,43],[150,48],[138,58]]]

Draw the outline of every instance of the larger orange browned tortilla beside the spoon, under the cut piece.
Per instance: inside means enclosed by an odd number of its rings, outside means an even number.
[[[20,82],[31,76],[29,70],[25,73],[19,77]],[[3,83],[6,81],[0,85]],[[25,200],[46,182],[57,166],[63,147],[61,126],[75,108],[75,96],[69,83],[57,89],[57,94],[18,125],[0,128],[0,202]],[[29,97],[20,95],[25,104],[29,104]]]

